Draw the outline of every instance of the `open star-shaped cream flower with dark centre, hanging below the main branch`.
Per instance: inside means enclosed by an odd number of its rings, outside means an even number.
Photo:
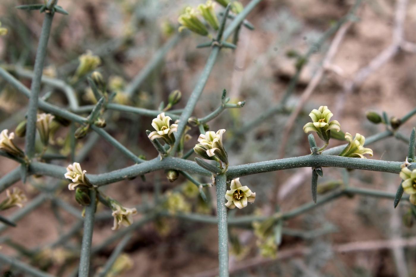
[[[241,185],[240,178],[231,181],[230,189],[225,193],[225,199],[228,200],[225,206],[230,209],[242,209],[247,206],[247,202],[253,203],[256,198],[256,193],[251,192],[248,186]]]

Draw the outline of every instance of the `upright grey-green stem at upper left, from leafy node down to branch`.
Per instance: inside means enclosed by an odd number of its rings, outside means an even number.
[[[35,132],[41,84],[40,80],[42,78],[43,66],[45,64],[46,49],[52,26],[53,15],[54,14],[52,12],[45,12],[45,19],[43,20],[42,32],[40,34],[39,45],[37,47],[34,77],[32,79],[32,86],[30,88],[25,139],[25,151],[27,157],[30,159],[35,155]]]

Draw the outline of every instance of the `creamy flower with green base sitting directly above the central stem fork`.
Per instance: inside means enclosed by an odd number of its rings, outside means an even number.
[[[195,153],[207,160],[216,160],[216,158],[228,165],[227,152],[223,146],[223,134],[225,129],[220,129],[216,133],[208,131],[206,134],[199,135],[199,143],[193,148]]]

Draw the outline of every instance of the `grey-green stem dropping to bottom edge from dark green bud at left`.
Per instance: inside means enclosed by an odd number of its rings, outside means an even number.
[[[91,203],[85,207],[84,232],[82,236],[81,257],[79,260],[79,277],[88,277],[92,243],[92,231],[94,229],[94,214],[96,209],[96,191],[90,190]]]

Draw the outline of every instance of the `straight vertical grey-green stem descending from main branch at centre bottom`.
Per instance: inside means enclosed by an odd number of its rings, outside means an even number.
[[[227,190],[227,176],[219,174],[215,177],[217,189],[218,215],[218,258],[220,277],[228,277],[228,223],[227,207],[225,207],[225,192]]]

